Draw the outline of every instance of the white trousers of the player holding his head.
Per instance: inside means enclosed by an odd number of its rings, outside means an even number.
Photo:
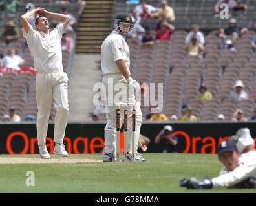
[[[68,80],[67,73],[63,71],[39,72],[36,75],[38,145],[45,145],[52,100],[54,100],[54,108],[56,109],[54,142],[63,142],[69,112]]]

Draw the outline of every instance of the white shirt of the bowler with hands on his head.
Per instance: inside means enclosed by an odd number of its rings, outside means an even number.
[[[27,34],[23,33],[34,57],[34,66],[37,71],[63,71],[61,38],[64,32],[63,23],[60,22],[48,33],[34,30],[32,26]]]

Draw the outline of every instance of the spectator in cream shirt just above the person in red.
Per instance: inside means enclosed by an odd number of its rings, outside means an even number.
[[[167,5],[167,1],[162,1],[162,8],[152,14],[152,17],[158,17],[159,22],[157,23],[156,30],[160,30],[160,25],[162,22],[167,21],[167,23],[173,23],[175,21],[175,12],[171,6]]]

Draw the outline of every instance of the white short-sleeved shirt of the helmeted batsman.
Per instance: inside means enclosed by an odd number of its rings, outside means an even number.
[[[123,59],[130,70],[130,50],[125,39],[118,32],[113,31],[101,45],[101,69],[104,75],[120,73],[116,60]]]

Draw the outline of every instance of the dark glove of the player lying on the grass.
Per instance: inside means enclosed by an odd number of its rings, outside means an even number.
[[[211,189],[213,188],[213,182],[210,178],[184,178],[180,180],[180,187],[187,187],[187,189]]]

